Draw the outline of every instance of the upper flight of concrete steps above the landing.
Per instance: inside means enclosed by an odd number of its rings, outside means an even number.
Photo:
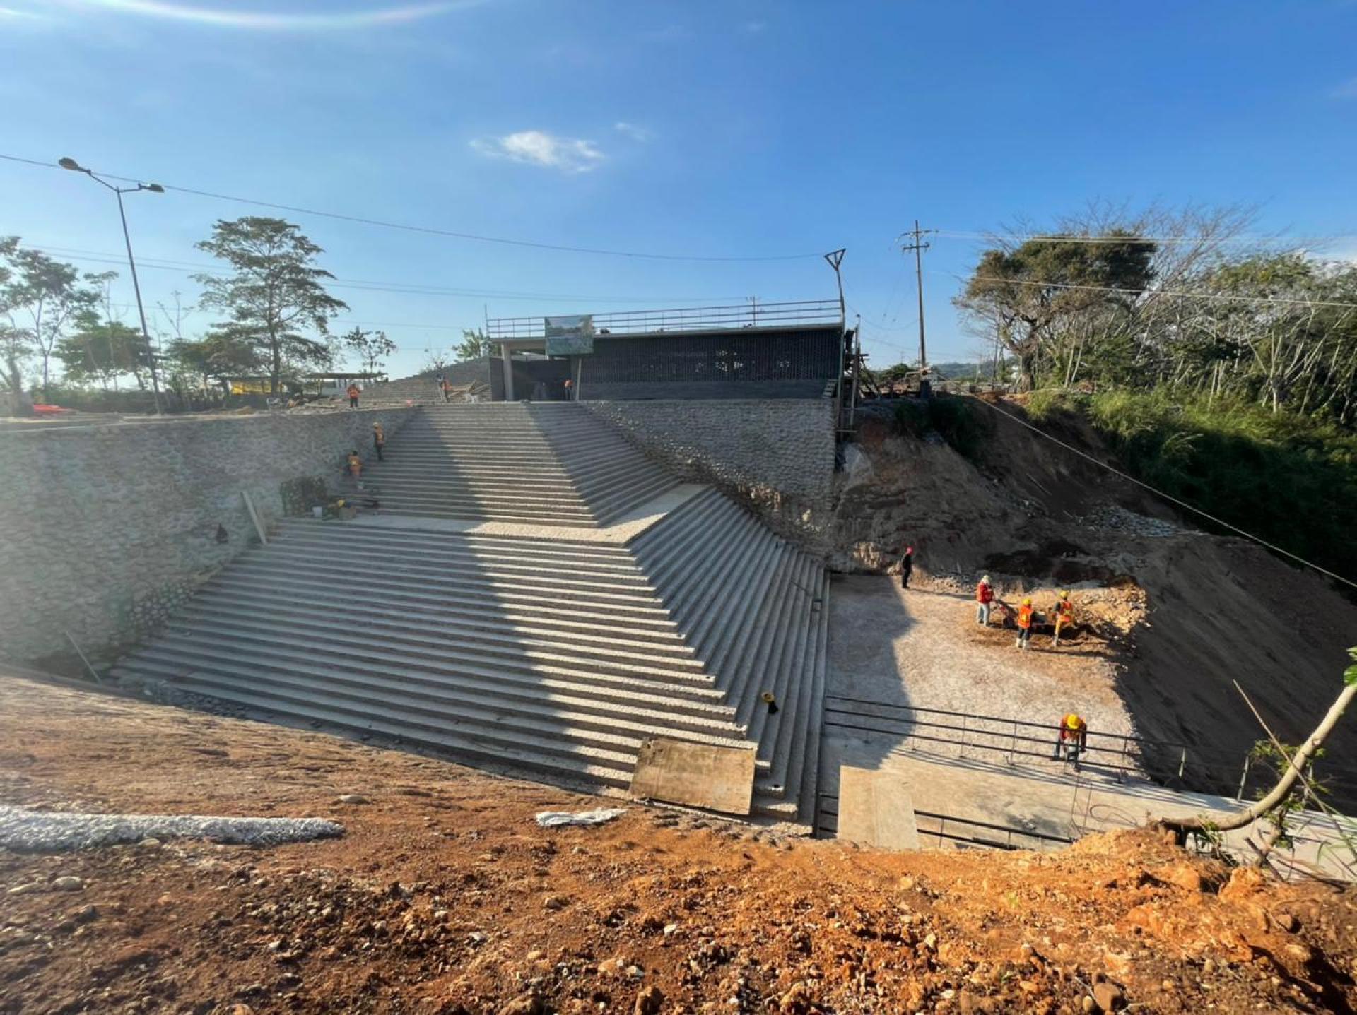
[[[537,525],[605,525],[678,480],[569,402],[423,406],[368,461],[387,512]]]

